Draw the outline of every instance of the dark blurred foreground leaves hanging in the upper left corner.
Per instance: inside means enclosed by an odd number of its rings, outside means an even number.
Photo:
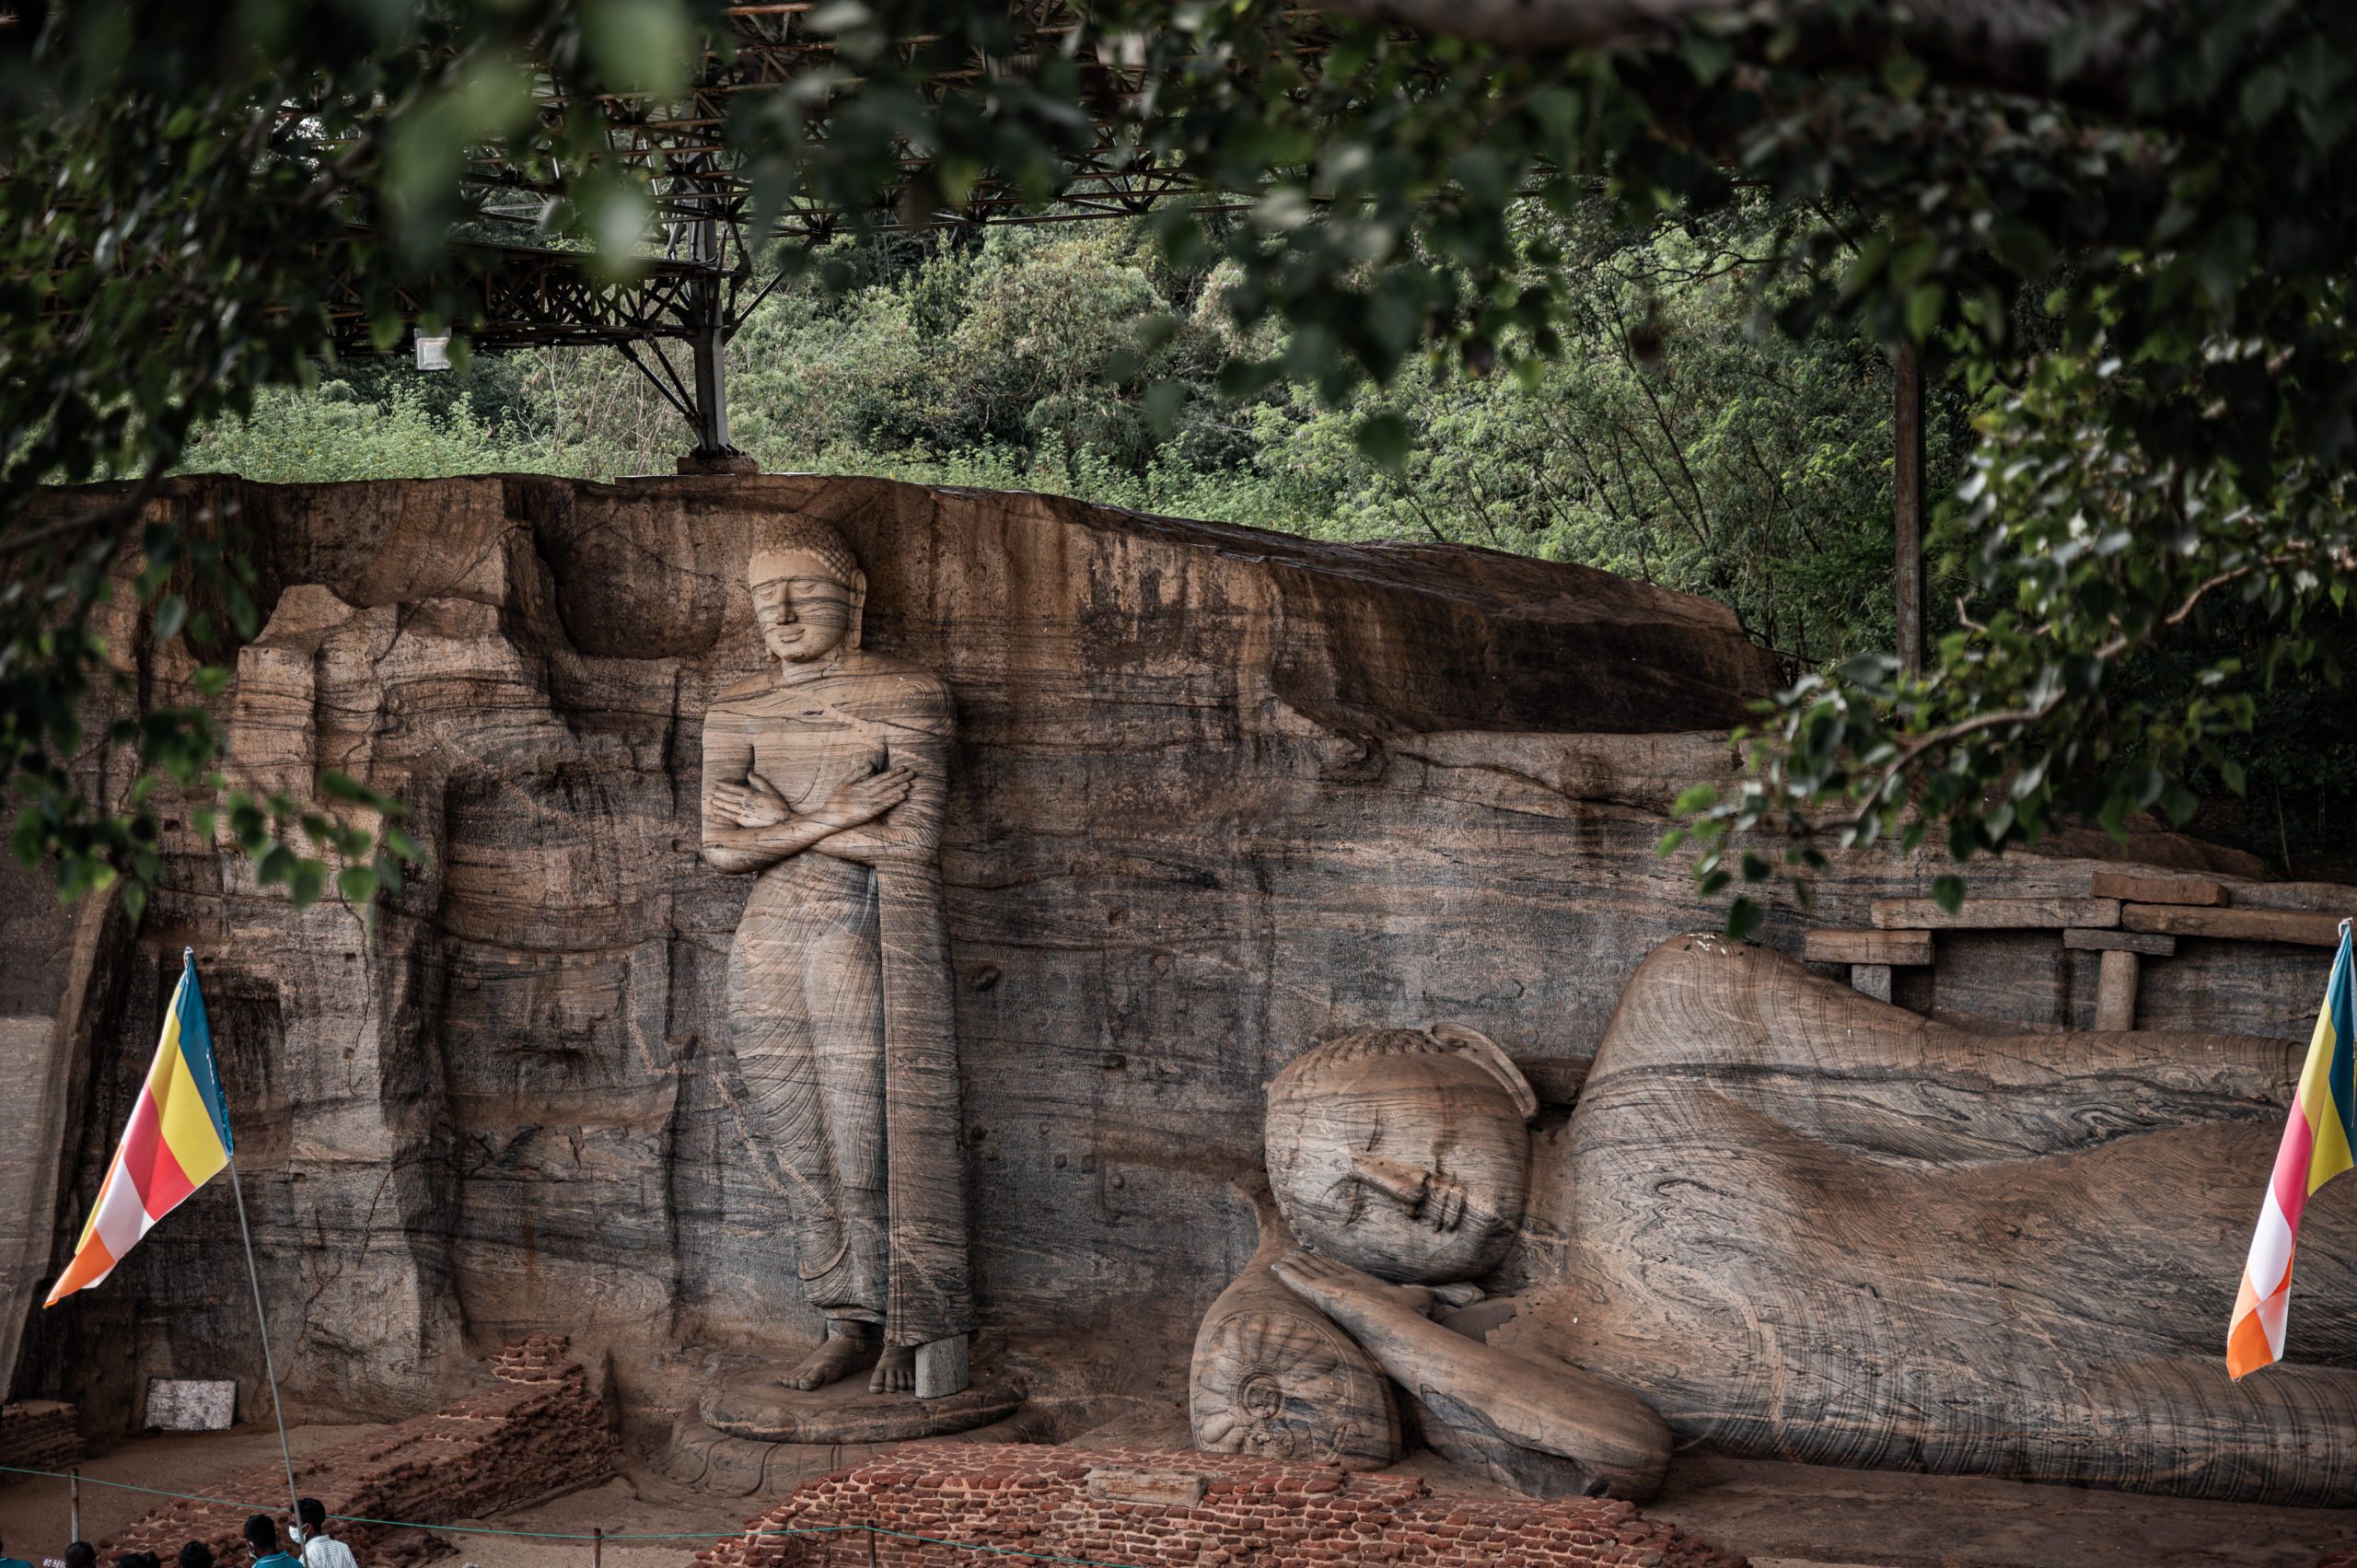
[[[127,809],[78,790],[85,698],[123,679],[94,615],[134,554],[156,637],[214,658],[252,637],[224,519],[189,535],[146,516],[189,431],[304,382],[346,281],[391,342],[394,285],[427,285],[434,262],[450,276],[469,149],[504,141],[547,170],[554,144],[589,141],[585,113],[533,118],[528,61],[580,101],[676,87],[698,14],[92,0],[0,17],[0,773],[19,795],[16,856],[49,861],[68,896],[127,875],[137,913],[165,783],[198,797],[200,830],[226,811],[262,877],[299,901],[337,865],[363,903],[398,879],[415,846],[370,825],[396,802],[342,776],[321,780],[325,806],[226,792],[203,707],[108,729],[139,759]],[[592,179],[580,222],[625,196]],[[450,309],[448,283],[438,297]],[[82,514],[28,521],[35,483],[115,474],[130,483]],[[219,611],[191,611],[205,604]],[[224,684],[224,665],[200,667],[198,693]]]

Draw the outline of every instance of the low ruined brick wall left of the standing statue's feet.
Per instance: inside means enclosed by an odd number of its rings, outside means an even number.
[[[486,1518],[613,1476],[618,1443],[561,1335],[526,1335],[493,1358],[495,1389],[351,1443],[309,1452],[297,1483],[342,1518],[450,1523]],[[104,1542],[101,1556],[200,1540],[219,1561],[245,1561],[245,1516],[285,1521],[285,1471],[257,1467],[207,1488],[229,1502],[167,1502]],[[365,1563],[408,1568],[448,1547],[427,1530],[339,1523]]]

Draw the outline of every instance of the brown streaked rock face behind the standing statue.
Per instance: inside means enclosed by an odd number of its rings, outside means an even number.
[[[700,717],[759,665],[742,578],[764,516],[841,528],[870,646],[952,686],[978,1349],[1075,1389],[1183,1370],[1254,1250],[1228,1184],[1259,1170],[1263,1082],[1313,1040],[1457,1021],[1577,1078],[1638,957],[1716,920],[1652,844],[1772,681],[1721,608],[1577,566],[1037,495],[203,479],[158,505],[240,528],[259,571],[233,771],[375,783],[431,861],[372,920],[295,913],[174,821],[141,929],[92,924],[73,997],[59,979],[21,1002],[71,1012],[42,1035],[71,1127],[57,1193],[31,1144],[0,1167],[19,1207],[54,1210],[64,1257],[196,946],[278,1365],[311,1415],[431,1408],[530,1330],[662,1412],[712,1349],[816,1337],[721,1023],[750,877],[698,858]],[[115,632],[151,696],[186,691],[181,646]],[[2079,894],[2088,870],[1994,875]],[[1862,898],[1928,877],[1848,865],[1817,915],[1862,924]],[[12,962],[73,948],[19,903]],[[1796,948],[1794,913],[1768,936]],[[1945,1007],[2086,1023],[2093,953],[1975,941],[1942,955]],[[2154,1021],[2305,1030],[2315,953],[2199,948],[2147,986]],[[226,1191],[198,1195],[104,1290],[33,1316],[19,1396],[80,1398],[104,1431],[137,1419],[146,1375],[252,1379],[233,1247]]]

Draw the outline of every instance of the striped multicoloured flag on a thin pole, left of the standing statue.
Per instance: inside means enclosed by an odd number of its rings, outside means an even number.
[[[229,1113],[212,1070],[212,1026],[196,988],[196,950],[184,950],[179,988],[163,1019],[156,1066],[148,1068],[132,1125],[123,1129],[99,1203],[90,1210],[73,1261],[42,1306],[97,1285],[158,1219],[229,1165]]]

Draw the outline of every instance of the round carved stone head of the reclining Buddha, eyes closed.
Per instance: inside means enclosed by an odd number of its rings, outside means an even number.
[[[1471,1028],[1341,1035],[1268,1085],[1268,1181],[1315,1252],[1398,1283],[1471,1280],[1523,1221],[1537,1108]]]

